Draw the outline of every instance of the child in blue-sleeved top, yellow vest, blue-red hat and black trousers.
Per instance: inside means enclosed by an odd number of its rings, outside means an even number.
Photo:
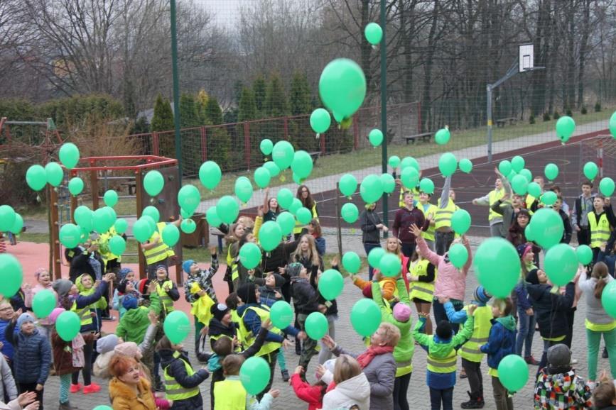
[[[471,304],[477,306],[477,309],[475,309],[475,326],[472,329],[472,336],[468,342],[464,343],[460,348],[462,367],[466,372],[470,386],[470,392],[468,392],[470,400],[460,404],[463,409],[482,409],[485,405],[481,374],[481,360],[484,354],[481,353],[479,347],[482,343],[487,342],[487,336],[490,334],[490,328],[492,328],[492,308],[486,306],[492,296],[482,286],[476,287],[473,295],[475,300]],[[453,304],[448,298],[441,299],[450,322],[464,323],[467,320],[467,311],[471,305],[464,306],[464,309],[460,311],[455,311]]]

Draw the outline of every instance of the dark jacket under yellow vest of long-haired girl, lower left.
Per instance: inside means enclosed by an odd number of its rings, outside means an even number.
[[[180,352],[178,357],[174,357],[174,353],[175,350],[169,349],[161,349],[158,351],[158,354],[161,355],[161,367],[163,368],[163,372],[167,372],[167,374],[173,377],[180,386],[185,389],[192,389],[193,387],[198,387],[203,380],[210,376],[210,373],[205,369],[200,369],[196,371],[194,375],[189,376],[183,362],[183,360],[185,360],[190,365],[188,353]],[[190,399],[173,401],[173,410],[195,410],[202,408],[203,399],[201,393],[190,397]]]

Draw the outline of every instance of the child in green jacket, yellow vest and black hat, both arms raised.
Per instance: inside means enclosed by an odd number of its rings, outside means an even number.
[[[453,333],[451,323],[440,321],[436,325],[436,334],[428,336],[423,333],[426,324],[426,314],[420,314],[419,321],[415,325],[413,338],[428,352],[426,370],[426,384],[430,389],[430,401],[432,409],[453,409],[453,386],[455,385],[455,362],[458,358],[458,348],[472,336],[475,326],[475,309],[477,306],[468,307],[468,319],[463,329]]]

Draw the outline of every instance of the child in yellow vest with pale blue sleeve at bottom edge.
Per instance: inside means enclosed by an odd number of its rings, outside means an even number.
[[[214,410],[269,410],[271,402],[279,397],[280,391],[272,389],[259,402],[248,394],[239,380],[239,369],[244,364],[240,355],[228,355],[222,362],[225,380],[216,382],[212,394],[215,397]]]

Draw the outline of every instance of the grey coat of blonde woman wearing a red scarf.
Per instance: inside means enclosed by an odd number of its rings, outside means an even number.
[[[350,353],[337,345],[332,353],[336,356],[357,354]],[[378,355],[364,367],[370,383],[370,410],[394,410],[394,382],[396,381],[396,360],[392,353]],[[363,410],[363,409],[362,409]]]

